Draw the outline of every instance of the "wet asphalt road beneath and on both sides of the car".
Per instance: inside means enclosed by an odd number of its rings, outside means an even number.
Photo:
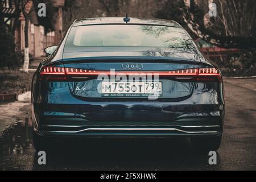
[[[225,80],[225,101],[216,166],[208,164],[207,154],[193,152],[184,138],[65,141],[47,153],[46,166],[39,166],[29,101],[1,104],[0,170],[256,170],[256,79]]]

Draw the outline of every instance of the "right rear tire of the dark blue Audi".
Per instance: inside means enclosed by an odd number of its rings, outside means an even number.
[[[205,137],[205,138],[191,138],[191,146],[195,151],[217,151],[218,148],[221,146],[221,139],[220,137]]]

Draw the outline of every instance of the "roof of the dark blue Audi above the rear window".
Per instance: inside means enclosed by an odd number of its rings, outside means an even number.
[[[84,25],[96,25],[96,24],[126,24],[126,22],[123,20],[123,17],[122,18],[121,17],[86,18],[86,19],[76,20],[72,24],[72,26],[84,26]],[[130,21],[127,24],[181,27],[179,23],[173,20],[165,20],[165,19],[130,18]]]

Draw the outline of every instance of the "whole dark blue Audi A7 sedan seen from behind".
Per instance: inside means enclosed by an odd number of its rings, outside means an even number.
[[[61,137],[189,137],[198,149],[220,147],[221,73],[178,23],[77,20],[45,51],[32,81],[36,150]]]

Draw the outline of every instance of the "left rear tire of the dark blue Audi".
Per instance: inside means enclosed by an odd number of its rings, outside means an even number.
[[[50,138],[37,135],[33,131],[33,144],[36,151],[50,151],[55,146],[55,142]]]

